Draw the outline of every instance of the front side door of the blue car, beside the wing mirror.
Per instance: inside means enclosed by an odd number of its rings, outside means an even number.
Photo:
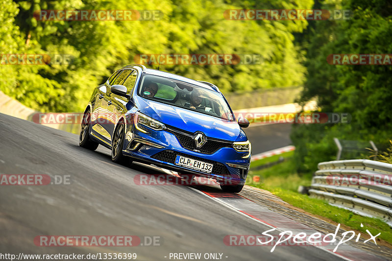
[[[124,69],[121,71],[121,73],[116,77],[116,79],[113,81],[113,83],[110,86],[120,84],[122,85],[125,81],[125,79],[132,73],[132,69]],[[113,133],[114,133],[114,128],[115,124],[117,123],[117,120],[120,118],[120,111],[124,111],[125,105],[123,105],[123,102],[125,104],[127,103],[127,99],[125,97],[122,97],[120,95],[115,95],[111,91],[107,93],[106,96],[106,103],[107,103],[107,110],[108,110],[108,117],[107,117],[107,123],[105,126],[106,131],[110,134],[110,140],[113,139]]]

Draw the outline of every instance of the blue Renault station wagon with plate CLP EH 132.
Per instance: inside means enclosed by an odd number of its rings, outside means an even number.
[[[251,146],[218,87],[176,74],[128,65],[94,89],[79,145],[112,150],[112,161],[153,164],[181,176],[215,179],[240,192]]]

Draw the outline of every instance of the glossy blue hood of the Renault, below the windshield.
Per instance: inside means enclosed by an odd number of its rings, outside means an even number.
[[[227,121],[199,112],[138,97],[141,113],[165,125],[188,132],[201,131],[205,136],[231,142],[246,141],[246,135],[236,121]]]

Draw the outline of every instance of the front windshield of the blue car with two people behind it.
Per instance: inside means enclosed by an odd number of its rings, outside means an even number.
[[[147,99],[234,121],[233,114],[220,93],[191,83],[145,74],[138,93]]]

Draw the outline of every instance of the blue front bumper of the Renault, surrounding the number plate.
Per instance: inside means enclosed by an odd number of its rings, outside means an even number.
[[[203,154],[185,149],[177,136],[170,130],[154,131],[148,129],[148,132],[148,134],[143,133],[133,124],[129,124],[125,135],[123,154],[131,157],[134,161],[154,164],[181,173],[214,178],[225,184],[245,184],[250,157],[243,159],[244,153],[239,153],[232,147],[221,147],[212,154]],[[176,155],[211,163],[213,164],[212,173],[208,174],[175,165]]]

